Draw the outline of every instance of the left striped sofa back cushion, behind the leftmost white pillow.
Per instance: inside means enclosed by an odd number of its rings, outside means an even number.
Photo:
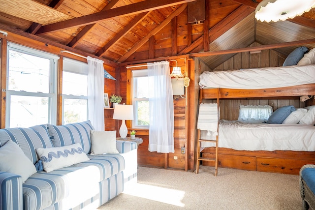
[[[45,125],[37,125],[30,128],[0,129],[0,147],[9,140],[17,143],[33,164],[38,160],[36,148],[53,147]]]

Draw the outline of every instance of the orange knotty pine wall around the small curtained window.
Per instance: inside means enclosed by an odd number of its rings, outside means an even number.
[[[195,136],[195,121],[194,121],[194,105],[195,103],[191,103],[190,100],[193,100],[195,98],[194,93],[194,61],[193,60],[185,60],[184,59],[177,59],[178,66],[182,68],[182,71],[189,75],[190,78],[190,86],[187,90],[187,94],[182,95],[182,98],[179,95],[173,96],[174,101],[174,147],[175,152],[164,154],[164,153],[158,153],[158,152],[150,152],[148,150],[148,144],[149,144],[149,131],[148,130],[141,130],[136,129],[137,137],[140,137],[143,139],[143,143],[139,145],[138,147],[138,165],[140,166],[150,166],[150,167],[160,167],[160,168],[174,168],[174,169],[182,169],[182,170],[188,170],[189,169],[189,157],[194,156],[194,136]],[[172,66],[175,66],[175,61],[170,61],[170,66],[172,70]],[[123,98],[126,98],[126,104],[131,104],[131,98],[130,98],[130,78],[131,78],[131,70],[134,70],[136,68],[131,68],[130,70],[127,70],[126,67],[122,67],[120,69],[121,77],[119,80],[119,93]],[[189,97],[189,95],[191,97]],[[192,108],[189,108],[189,104],[192,105]],[[189,110],[189,111],[188,111]],[[190,113],[190,111],[192,111]],[[192,122],[189,122],[189,120],[192,120]],[[121,122],[120,122],[121,123]],[[127,120],[126,122],[127,127],[131,127],[131,122]],[[190,125],[192,124],[192,131],[189,130]],[[191,143],[192,142],[192,143]],[[185,147],[186,153],[181,153],[181,148]],[[174,156],[177,157],[177,159],[174,159]],[[193,161],[192,165],[190,167],[193,167]]]

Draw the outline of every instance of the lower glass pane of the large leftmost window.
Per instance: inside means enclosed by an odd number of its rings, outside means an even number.
[[[48,97],[11,95],[10,104],[10,127],[48,123]]]

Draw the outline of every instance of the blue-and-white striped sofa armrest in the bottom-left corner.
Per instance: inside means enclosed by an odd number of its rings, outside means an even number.
[[[21,176],[0,171],[0,209],[23,210]]]

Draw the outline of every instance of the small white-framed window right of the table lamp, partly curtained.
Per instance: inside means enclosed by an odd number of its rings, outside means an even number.
[[[132,128],[149,129],[149,81],[148,70],[132,71],[132,105],[134,120]]]

